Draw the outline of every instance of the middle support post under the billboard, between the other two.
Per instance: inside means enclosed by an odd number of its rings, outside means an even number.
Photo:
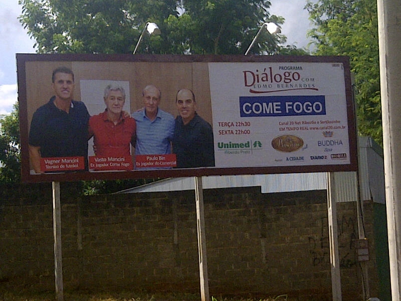
[[[208,260],[206,256],[205,210],[202,177],[195,177],[196,228],[199,258],[200,300],[209,301]]]

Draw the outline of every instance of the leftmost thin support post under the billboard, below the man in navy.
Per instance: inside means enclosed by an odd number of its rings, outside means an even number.
[[[63,266],[61,259],[61,205],[60,182],[53,184],[53,235],[54,235],[54,275],[57,301],[64,301]]]

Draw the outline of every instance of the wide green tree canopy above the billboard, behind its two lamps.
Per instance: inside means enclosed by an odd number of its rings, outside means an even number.
[[[19,0],[20,22],[39,53],[132,53],[146,22],[163,35],[145,36],[138,53],[244,54],[270,16],[264,0]],[[265,33],[254,53],[276,54],[284,35]],[[286,49],[288,51],[288,49]]]

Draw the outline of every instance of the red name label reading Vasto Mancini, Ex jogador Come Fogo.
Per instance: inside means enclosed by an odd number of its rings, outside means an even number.
[[[131,156],[123,157],[98,157],[89,156],[90,171],[132,171]]]

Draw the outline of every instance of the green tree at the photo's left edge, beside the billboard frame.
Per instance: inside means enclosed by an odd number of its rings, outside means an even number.
[[[0,183],[21,179],[19,106],[11,114],[0,115]]]

